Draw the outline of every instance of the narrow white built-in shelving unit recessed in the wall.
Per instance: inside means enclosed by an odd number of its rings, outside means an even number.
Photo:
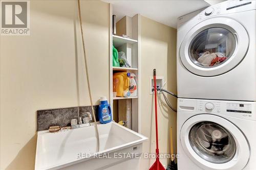
[[[127,118],[128,128],[140,132],[140,15],[134,15],[132,20],[132,36],[130,38],[112,35],[112,15],[113,6],[110,4],[110,104],[112,107],[113,119],[115,122]],[[115,14],[116,15],[116,14]],[[125,48],[131,49],[131,68],[130,67],[115,67],[112,65],[112,44],[117,48],[118,52]],[[126,54],[125,54],[126,55]],[[113,74],[115,72],[132,72],[136,75],[137,96],[129,97],[113,97]],[[126,115],[127,114],[127,115]],[[124,118],[124,119],[123,119]]]

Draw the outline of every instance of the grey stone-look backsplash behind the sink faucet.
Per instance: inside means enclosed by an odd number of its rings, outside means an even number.
[[[98,106],[94,106],[94,110],[96,120],[98,121]],[[92,114],[91,106],[79,106],[79,116],[85,112],[90,112]],[[48,130],[50,126],[71,126],[71,119],[79,119],[77,115],[77,107],[38,110],[36,114],[37,131]],[[91,122],[93,122],[93,120]]]

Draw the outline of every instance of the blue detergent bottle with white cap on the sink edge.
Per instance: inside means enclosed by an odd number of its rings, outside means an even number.
[[[111,107],[108,104],[108,99],[106,99],[106,97],[100,98],[98,117],[99,117],[99,122],[101,124],[107,124],[112,121]]]

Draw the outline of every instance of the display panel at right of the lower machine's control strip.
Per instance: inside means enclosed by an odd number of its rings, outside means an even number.
[[[227,103],[227,112],[251,113],[250,104]]]

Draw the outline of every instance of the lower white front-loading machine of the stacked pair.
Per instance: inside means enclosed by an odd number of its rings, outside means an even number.
[[[179,170],[256,169],[256,102],[178,99]]]

